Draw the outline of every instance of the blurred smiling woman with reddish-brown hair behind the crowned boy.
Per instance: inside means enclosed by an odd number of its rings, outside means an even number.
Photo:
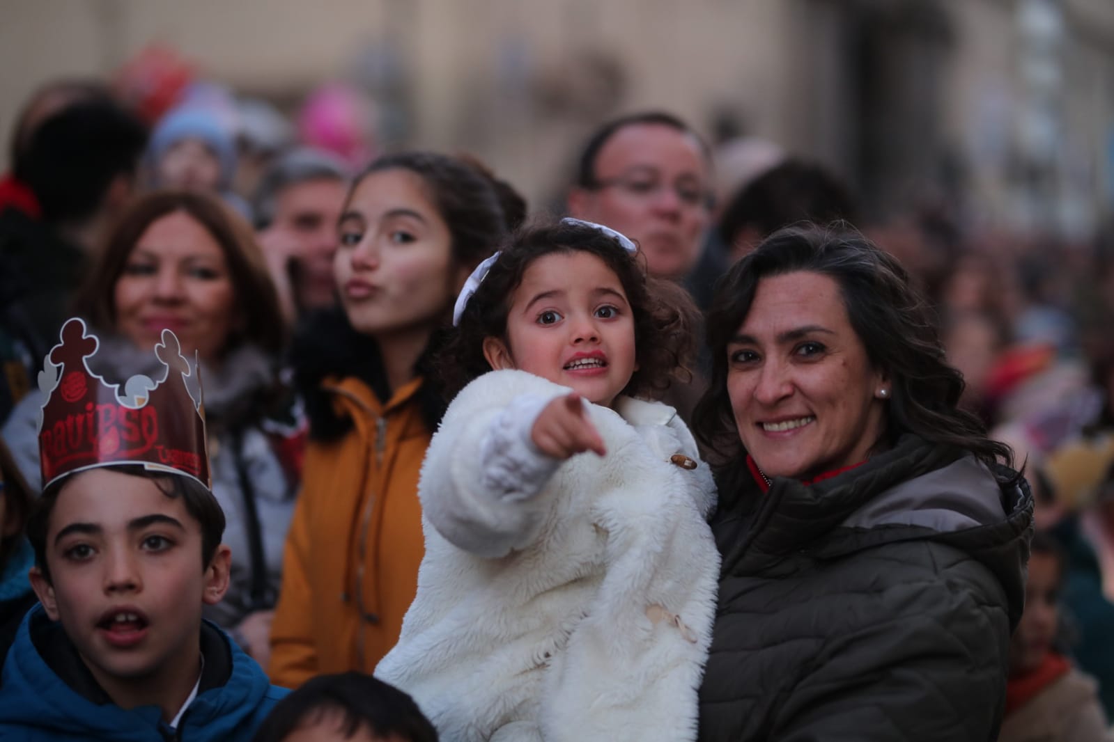
[[[227,517],[232,586],[206,617],[266,662],[282,550],[299,485],[297,415],[277,383],[285,327],[250,226],[213,196],[136,200],[110,231],[75,306],[101,337],[92,370],[110,383],[160,373],[150,347],[173,330],[205,379],[213,493]],[[3,437],[39,483],[32,393]]]

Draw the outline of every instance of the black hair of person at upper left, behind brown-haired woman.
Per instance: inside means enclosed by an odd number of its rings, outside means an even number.
[[[80,222],[97,212],[117,176],[135,177],[146,146],[147,128],[119,103],[75,103],[42,122],[14,175],[47,222]]]

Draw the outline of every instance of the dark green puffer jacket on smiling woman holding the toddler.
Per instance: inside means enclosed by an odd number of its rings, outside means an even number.
[[[804,485],[721,495],[705,742],[997,739],[1033,499],[905,436]]]

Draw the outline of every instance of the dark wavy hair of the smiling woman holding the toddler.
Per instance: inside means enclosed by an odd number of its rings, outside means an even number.
[[[768,237],[716,285],[707,311],[712,378],[693,413],[693,432],[720,467],[721,482],[745,466],[727,395],[727,344],[743,324],[764,278],[809,271],[836,280],[848,318],[874,368],[890,378],[886,435],[912,433],[968,451],[991,471],[1013,465],[1013,452],[991,441],[983,423],[957,406],[962,375],[945,360],[934,314],[891,255],[842,222],[824,229],[788,227]]]

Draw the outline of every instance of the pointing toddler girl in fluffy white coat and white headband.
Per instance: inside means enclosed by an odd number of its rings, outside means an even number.
[[[576,219],[468,279],[418,595],[375,670],[443,740],[695,739],[715,488],[675,410],[639,398],[691,349],[691,307],[629,239]]]

